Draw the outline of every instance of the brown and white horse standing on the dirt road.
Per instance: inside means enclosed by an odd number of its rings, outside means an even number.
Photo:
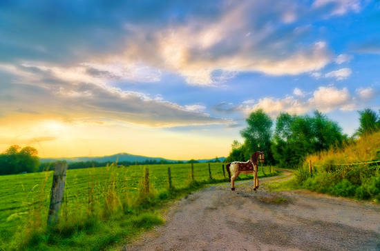
[[[260,163],[264,162],[264,152],[254,152],[251,155],[251,159],[247,162],[234,161],[226,165],[228,172],[228,178],[231,182],[231,190],[235,191],[235,179],[238,178],[241,172],[243,173],[253,173],[254,174],[254,190],[258,188],[258,160]],[[232,174],[232,175],[231,175]]]

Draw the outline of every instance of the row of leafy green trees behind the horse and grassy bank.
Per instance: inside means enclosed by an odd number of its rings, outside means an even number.
[[[338,123],[318,110],[312,116],[281,113],[275,125],[263,110],[256,110],[246,121],[247,128],[240,131],[244,142],[233,141],[225,162],[246,161],[252,152],[264,151],[267,164],[297,168],[307,154],[341,148],[355,137],[379,131],[380,111],[359,111],[360,126],[352,137],[343,134]]]

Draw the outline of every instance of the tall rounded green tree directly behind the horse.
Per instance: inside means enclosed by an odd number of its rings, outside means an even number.
[[[264,151],[267,163],[273,163],[271,151],[272,119],[259,109],[252,112],[246,121],[247,128],[240,131],[249,149],[246,159],[249,159],[252,152]]]

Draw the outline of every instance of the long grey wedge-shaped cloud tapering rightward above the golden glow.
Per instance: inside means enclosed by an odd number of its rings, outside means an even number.
[[[180,106],[140,92],[108,86],[102,79],[85,74],[83,68],[30,68],[26,65],[0,67],[0,70],[17,72],[12,79],[12,88],[1,93],[10,97],[0,99],[1,114],[14,113],[10,110],[12,107],[15,112],[38,110],[39,114],[68,120],[108,118],[153,127],[231,122],[210,117],[200,105]]]

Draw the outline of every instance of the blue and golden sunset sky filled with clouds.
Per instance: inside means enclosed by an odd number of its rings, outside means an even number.
[[[380,1],[0,1],[0,152],[227,156],[250,112],[380,109]]]

